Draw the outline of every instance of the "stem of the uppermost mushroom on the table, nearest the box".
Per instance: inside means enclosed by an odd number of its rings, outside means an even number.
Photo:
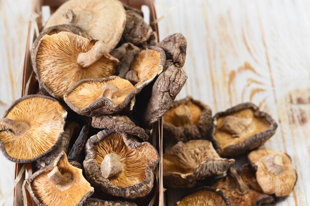
[[[186,126],[193,124],[191,110],[184,104],[181,104],[175,108],[174,115],[176,126]]]

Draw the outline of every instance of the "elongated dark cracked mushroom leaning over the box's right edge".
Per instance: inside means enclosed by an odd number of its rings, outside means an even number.
[[[187,80],[182,68],[166,61],[166,69],[156,79],[152,96],[143,113],[142,122],[146,128],[152,128],[172,105],[176,95]]]

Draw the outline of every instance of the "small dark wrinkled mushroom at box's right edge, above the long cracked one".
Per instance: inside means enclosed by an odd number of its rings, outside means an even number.
[[[182,34],[176,33],[170,35],[157,43],[156,46],[165,51],[167,59],[171,59],[172,62],[177,64],[179,67],[184,66],[187,42]]]

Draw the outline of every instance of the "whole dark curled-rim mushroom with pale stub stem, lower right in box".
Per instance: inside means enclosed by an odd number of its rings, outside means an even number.
[[[159,156],[149,142],[112,129],[100,131],[85,145],[83,163],[88,180],[103,192],[136,199],[149,194]]]

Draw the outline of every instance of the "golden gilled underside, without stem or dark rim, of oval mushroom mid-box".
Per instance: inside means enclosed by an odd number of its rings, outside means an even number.
[[[102,92],[106,84],[114,84],[118,87],[118,91],[114,93],[116,98],[111,99],[114,105],[123,103],[126,97],[136,89],[132,83],[119,77],[106,81],[90,80],[77,85],[64,96],[64,99],[71,102],[76,108],[80,110],[84,109],[94,103],[98,98],[104,97]]]

